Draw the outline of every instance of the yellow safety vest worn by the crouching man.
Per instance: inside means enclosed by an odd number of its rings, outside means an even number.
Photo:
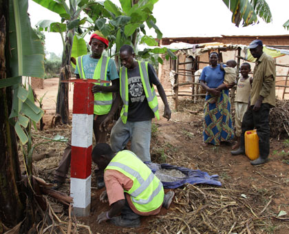
[[[131,195],[131,201],[138,211],[154,211],[164,202],[162,182],[133,152],[118,152],[107,169],[119,171],[133,181],[133,186],[125,193]]]

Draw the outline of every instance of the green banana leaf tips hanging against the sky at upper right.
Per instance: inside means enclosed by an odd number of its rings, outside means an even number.
[[[241,21],[243,27],[258,23],[257,16],[266,23],[272,21],[272,14],[266,0],[223,0],[223,2],[233,13],[232,23],[237,27]]]

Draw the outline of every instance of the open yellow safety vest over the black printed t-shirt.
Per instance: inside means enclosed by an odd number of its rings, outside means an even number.
[[[149,103],[149,107],[152,109],[156,118],[160,119],[160,114],[158,114],[158,97],[156,96],[155,89],[153,85],[149,84],[149,72],[147,70],[147,65],[149,62],[138,61],[138,66],[140,67],[140,78],[142,79],[142,86],[144,87],[144,94]],[[122,98],[123,107],[120,112],[120,118],[122,123],[127,123],[127,114],[129,111],[129,85],[127,83],[127,68],[120,68],[120,96]]]

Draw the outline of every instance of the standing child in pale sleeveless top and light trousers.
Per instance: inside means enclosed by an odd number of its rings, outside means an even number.
[[[242,134],[242,120],[248,108],[248,100],[250,96],[251,84],[253,77],[249,77],[251,66],[250,63],[242,63],[240,67],[241,78],[237,83],[237,92],[235,97],[235,127],[237,142],[233,145],[232,149],[239,148],[240,136]]]

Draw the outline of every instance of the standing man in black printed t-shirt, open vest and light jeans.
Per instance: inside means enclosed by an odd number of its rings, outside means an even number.
[[[158,100],[153,85],[156,85],[164,103],[164,118],[171,118],[171,109],[153,66],[136,61],[134,57],[130,45],[120,48],[120,61],[124,66],[120,70],[120,96],[124,106],[120,118],[111,129],[111,149],[121,151],[131,140],[131,151],[143,162],[150,162],[151,119],[154,116],[159,118]]]

